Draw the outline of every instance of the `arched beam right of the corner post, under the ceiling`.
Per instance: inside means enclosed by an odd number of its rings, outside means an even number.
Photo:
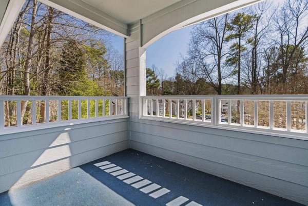
[[[146,48],[177,29],[261,1],[264,0],[182,0],[141,20],[142,46]]]

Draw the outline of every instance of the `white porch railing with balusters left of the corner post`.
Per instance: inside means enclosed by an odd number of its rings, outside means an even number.
[[[121,116],[126,97],[0,96],[0,131]]]

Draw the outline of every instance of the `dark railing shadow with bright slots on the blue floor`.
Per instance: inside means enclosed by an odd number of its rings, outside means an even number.
[[[136,205],[300,205],[133,149],[80,168]]]

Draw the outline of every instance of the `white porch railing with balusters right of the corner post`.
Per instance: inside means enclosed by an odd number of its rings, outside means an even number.
[[[144,96],[142,118],[308,137],[308,95]]]

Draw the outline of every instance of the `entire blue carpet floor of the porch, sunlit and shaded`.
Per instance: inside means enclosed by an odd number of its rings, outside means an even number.
[[[0,205],[300,204],[127,149],[2,193]]]

